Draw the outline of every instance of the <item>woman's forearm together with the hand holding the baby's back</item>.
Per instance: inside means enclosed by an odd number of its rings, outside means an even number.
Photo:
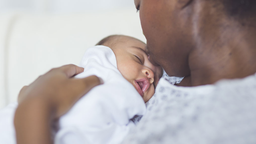
[[[64,65],[22,88],[14,118],[18,144],[53,143],[52,121],[65,114],[91,88],[101,84],[97,76],[71,78],[81,72],[81,67]]]

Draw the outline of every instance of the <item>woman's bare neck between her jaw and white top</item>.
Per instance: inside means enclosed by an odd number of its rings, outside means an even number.
[[[249,26],[228,25],[200,33],[197,47],[189,54],[192,85],[212,84],[220,79],[254,74],[255,38],[256,29]]]

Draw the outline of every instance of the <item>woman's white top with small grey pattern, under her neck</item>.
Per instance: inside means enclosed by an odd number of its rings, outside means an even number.
[[[177,87],[162,78],[122,144],[255,144],[256,75]]]

